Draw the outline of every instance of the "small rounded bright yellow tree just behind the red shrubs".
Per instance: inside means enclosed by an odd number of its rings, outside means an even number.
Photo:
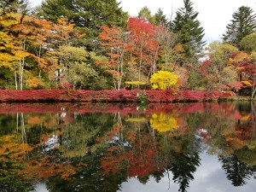
[[[171,72],[159,71],[151,76],[150,83],[153,90],[166,90],[177,84],[177,79],[178,76]]]

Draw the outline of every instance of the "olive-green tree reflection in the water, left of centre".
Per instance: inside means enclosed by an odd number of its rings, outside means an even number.
[[[61,129],[62,157],[83,157],[105,147],[104,143],[96,143],[96,137],[111,128],[113,115],[85,114],[76,115],[75,119]]]

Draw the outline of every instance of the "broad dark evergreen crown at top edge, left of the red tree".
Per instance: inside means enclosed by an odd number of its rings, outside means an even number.
[[[128,19],[116,0],[45,0],[38,15],[53,21],[66,17],[86,34],[79,43],[89,50],[96,49],[100,26],[125,26]]]

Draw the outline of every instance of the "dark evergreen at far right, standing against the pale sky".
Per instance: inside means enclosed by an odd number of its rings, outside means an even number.
[[[223,34],[224,42],[240,45],[241,39],[256,30],[256,15],[253,9],[241,6],[233,15],[230,24],[226,26],[227,31]]]

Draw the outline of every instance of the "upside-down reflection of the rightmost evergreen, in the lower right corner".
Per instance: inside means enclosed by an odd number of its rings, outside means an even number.
[[[227,178],[234,186],[242,186],[246,184],[246,180],[254,175],[256,172],[255,166],[248,166],[237,159],[236,154],[219,157],[223,163],[224,171]]]

